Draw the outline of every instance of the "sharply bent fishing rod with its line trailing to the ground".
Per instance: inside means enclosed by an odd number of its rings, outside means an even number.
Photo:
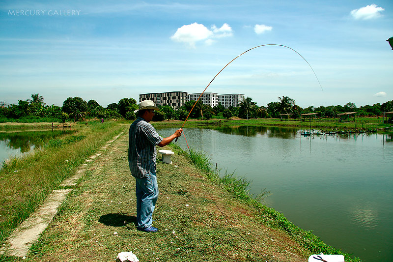
[[[245,52],[243,52],[242,54],[240,54],[239,56],[237,56],[237,57],[235,57],[235,58],[233,58],[229,63],[227,63],[214,77],[213,77],[213,79],[209,82],[209,84],[205,87],[205,89],[203,90],[203,92],[199,95],[199,97],[198,97],[198,99],[197,99],[197,101],[195,102],[195,104],[194,104],[194,106],[192,107],[192,109],[190,110],[190,112],[188,113],[188,116],[186,117],[186,119],[184,120],[184,123],[183,123],[183,125],[181,126],[181,129],[183,129],[183,127],[184,127],[184,125],[186,124],[186,121],[187,121],[187,119],[188,119],[188,117],[191,115],[191,112],[194,110],[194,107],[197,105],[197,102],[199,101],[199,99],[202,97],[202,95],[203,95],[203,93],[206,91],[206,89],[207,89],[207,87],[209,87],[210,86],[210,84],[214,81],[214,79],[216,79],[216,77],[225,69],[225,67],[227,67],[231,62],[233,62],[235,59],[237,59],[237,58],[239,58],[239,57],[241,57],[242,55],[244,55],[244,54],[246,54],[247,52],[249,52],[249,51],[251,51],[251,50],[253,50],[253,49],[256,49],[256,48],[258,48],[258,47],[262,47],[262,46],[281,46],[281,47],[285,47],[285,48],[288,48],[288,49],[290,49],[290,50],[292,50],[293,52],[295,52],[296,54],[298,54],[301,58],[303,58],[305,61],[306,61],[306,63],[309,65],[309,67],[311,68],[311,70],[312,70],[312,73],[314,74],[314,76],[315,76],[315,78],[316,78],[316,80],[318,81],[318,84],[319,84],[319,86],[321,87],[321,89],[322,89],[322,91],[323,91],[323,88],[322,88],[322,86],[321,86],[321,83],[319,82],[319,79],[318,79],[318,77],[317,77],[317,75],[315,74],[315,71],[314,71],[314,69],[312,69],[312,66],[309,64],[309,62],[306,60],[306,58],[304,58],[299,52],[297,52],[296,50],[294,50],[294,49],[292,49],[292,48],[290,48],[290,47],[288,47],[288,46],[285,46],[285,45],[279,45],[279,44],[265,44],[265,45],[259,45],[259,46],[255,46],[255,47],[253,47],[253,48],[251,48],[251,49],[249,49],[249,50],[247,50],[247,51],[245,51]],[[188,145],[188,142],[187,142],[187,140],[186,140],[186,135],[184,134],[184,130],[183,130],[183,136],[184,136],[184,140],[186,141],[186,144],[187,144],[187,147],[188,147],[188,150],[189,150],[189,153],[190,153],[190,156],[192,156],[192,151],[191,151],[191,149],[190,149],[190,146]],[[177,141],[177,139],[178,138],[176,138],[176,140],[175,140],[175,142]],[[199,173],[199,169],[197,168],[197,163],[196,163],[196,161],[193,161],[194,162],[194,165],[195,165],[195,168],[196,168],[196,170],[197,170],[197,173],[198,173],[198,175],[199,176],[201,176],[200,175],[200,173]],[[209,190],[207,190],[207,187],[206,187],[206,185],[205,185],[205,183],[204,183],[204,181],[203,181],[203,179],[201,179],[201,181],[202,181],[202,184],[203,184],[203,187],[205,188],[205,191],[207,192],[207,194],[209,195],[209,197],[210,197],[210,199],[213,201],[213,203],[216,205],[216,207],[217,207],[217,209],[220,211],[220,213],[223,215],[223,217],[225,218],[225,220],[226,220],[226,222],[231,226],[231,228],[233,229],[233,231],[234,232],[236,232],[253,250],[255,250],[259,255],[261,255],[264,259],[268,259],[267,258],[267,256],[265,256],[264,254],[262,254],[259,250],[257,250],[243,235],[241,235],[236,229],[235,229],[235,227],[232,225],[232,223],[230,223],[229,222],[229,220],[228,220],[228,217],[224,214],[224,212],[221,210],[221,208],[218,206],[218,204],[217,204],[217,202],[216,201],[214,201],[214,199],[213,199],[213,196],[210,194],[210,192],[209,192]]]

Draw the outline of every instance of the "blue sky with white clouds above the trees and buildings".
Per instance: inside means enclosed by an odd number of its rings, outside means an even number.
[[[0,100],[106,106],[165,91],[243,93],[259,106],[393,100],[393,2],[0,1]]]

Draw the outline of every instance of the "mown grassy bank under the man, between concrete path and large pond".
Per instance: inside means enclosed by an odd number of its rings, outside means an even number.
[[[255,201],[249,181],[219,177],[206,155],[174,145],[166,148],[175,151],[173,163],[157,163],[160,196],[153,225],[159,232],[139,232],[127,149],[124,133],[87,163],[25,261],[114,261],[119,252],[132,251],[143,262],[300,262],[312,253],[340,252]]]

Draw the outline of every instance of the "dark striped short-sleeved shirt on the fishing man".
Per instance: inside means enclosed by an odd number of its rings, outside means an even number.
[[[128,164],[131,174],[142,178],[149,172],[156,172],[156,145],[163,138],[154,127],[138,117],[128,131]]]

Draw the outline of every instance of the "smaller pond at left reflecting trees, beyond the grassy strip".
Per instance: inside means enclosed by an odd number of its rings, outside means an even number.
[[[0,131],[0,163],[10,157],[31,152],[44,146],[50,139],[74,133],[75,130]]]

